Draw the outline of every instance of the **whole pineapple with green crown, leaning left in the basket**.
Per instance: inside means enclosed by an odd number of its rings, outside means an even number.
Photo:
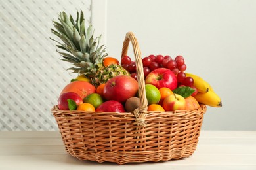
[[[94,86],[106,83],[110,78],[117,75],[129,75],[129,72],[123,69],[121,65],[109,65],[107,67],[103,64],[103,59],[106,54],[105,46],[100,46],[100,37],[93,38],[93,27],[89,25],[85,28],[85,19],[83,12],[80,14],[77,11],[77,18],[74,21],[72,16],[68,17],[65,12],[60,12],[58,18],[60,22],[53,21],[56,30],[51,29],[52,33],[58,36],[61,42],[56,45],[62,50],[57,52],[64,58],[63,61],[68,61],[74,65],[68,70],[79,75],[85,74],[91,78]],[[63,52],[64,51],[64,52]]]

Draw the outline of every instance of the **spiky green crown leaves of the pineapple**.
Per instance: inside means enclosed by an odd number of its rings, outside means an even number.
[[[94,67],[99,66],[103,58],[107,56],[104,45],[100,46],[99,37],[93,38],[94,29],[92,25],[85,27],[85,18],[83,11],[77,11],[77,18],[74,20],[72,16],[65,12],[60,12],[58,17],[59,22],[53,21],[54,28],[51,32],[60,38],[63,42],[51,40],[57,42],[56,47],[64,52],[57,52],[64,58],[63,61],[72,63],[75,67],[71,67],[69,70],[73,73],[89,73]]]

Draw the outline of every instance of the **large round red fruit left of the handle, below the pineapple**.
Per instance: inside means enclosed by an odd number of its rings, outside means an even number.
[[[106,100],[115,100],[123,103],[137,95],[138,88],[138,82],[131,76],[114,76],[106,82],[103,96]]]

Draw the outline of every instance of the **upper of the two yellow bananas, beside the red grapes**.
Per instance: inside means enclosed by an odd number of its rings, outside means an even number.
[[[208,82],[205,82],[205,80],[203,80],[203,78],[201,78],[200,76],[191,73],[186,73],[186,76],[190,76],[194,79],[194,86],[198,89],[198,92],[206,93],[209,91],[209,88],[211,87],[210,84]]]

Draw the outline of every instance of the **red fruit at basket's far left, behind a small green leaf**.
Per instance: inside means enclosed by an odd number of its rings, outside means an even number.
[[[83,99],[77,93],[66,92],[66,93],[62,93],[58,98],[58,109],[70,110],[68,108],[68,99],[74,100],[76,105],[80,105],[81,103],[83,103]]]

